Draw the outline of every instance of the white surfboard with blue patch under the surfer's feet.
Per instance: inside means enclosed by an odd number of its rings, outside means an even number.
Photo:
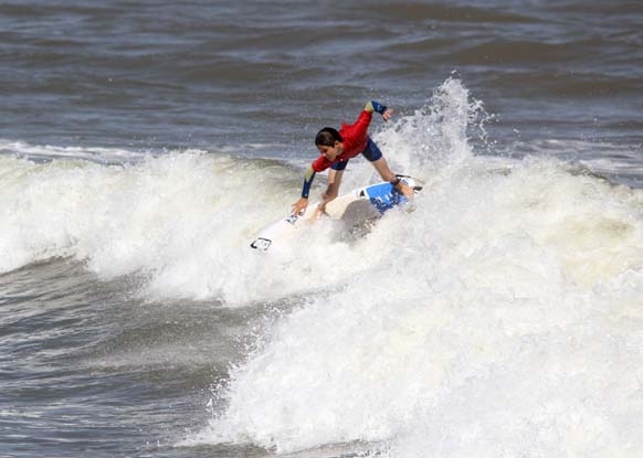
[[[411,187],[415,192],[422,190],[424,184],[422,181],[405,175],[398,177],[400,177],[402,181]],[[376,215],[382,214],[396,205],[408,202],[402,193],[394,190],[391,183],[384,181],[358,188],[346,194],[339,195],[326,205],[326,213],[333,220],[340,220],[354,202],[360,201],[370,203],[370,205],[367,206]],[[308,205],[303,215],[291,214],[264,227],[250,246],[254,249],[266,252],[271,246],[287,243],[287,241],[294,237],[306,223],[312,222],[317,205],[318,203]]]

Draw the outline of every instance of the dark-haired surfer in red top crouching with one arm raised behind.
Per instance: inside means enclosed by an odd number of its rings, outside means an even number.
[[[316,210],[317,213],[325,213],[326,204],[337,198],[339,193],[341,175],[348,160],[359,153],[362,153],[372,163],[382,180],[390,182],[405,198],[413,196],[413,190],[391,171],[382,152],[368,135],[368,127],[373,111],[382,115],[384,123],[391,118],[393,113],[392,109],[371,100],[366,104],[363,110],[351,126],[342,124],[339,131],[331,127],[325,127],[317,132],[315,146],[322,155],[306,170],[302,198],[293,204],[294,215],[304,213],[308,206],[308,193],[310,192],[315,173],[330,168],[328,171],[328,188],[322,194],[322,202]]]

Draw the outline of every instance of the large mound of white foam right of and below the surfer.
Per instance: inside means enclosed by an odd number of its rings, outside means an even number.
[[[446,105],[471,106],[450,84]],[[366,440],[391,457],[643,449],[643,194],[555,159],[489,164],[471,155],[462,118],[432,126],[462,111],[426,126],[429,111],[403,137],[380,134],[408,146],[397,150],[409,163],[425,132],[455,137],[417,160],[429,185],[415,211],[286,269],[304,285],[319,273],[327,288],[233,371],[226,411],[187,444],[288,452]]]

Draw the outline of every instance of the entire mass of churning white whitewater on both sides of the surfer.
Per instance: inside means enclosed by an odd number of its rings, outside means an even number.
[[[359,237],[320,221],[278,255],[247,247],[295,199],[278,160],[2,157],[0,269],[66,258],[139,278],[150,303],[270,305],[179,447],[635,457],[643,193],[556,158],[474,155],[487,118],[447,79],[375,136],[426,181],[413,204]],[[345,185],[375,178],[354,162]]]

